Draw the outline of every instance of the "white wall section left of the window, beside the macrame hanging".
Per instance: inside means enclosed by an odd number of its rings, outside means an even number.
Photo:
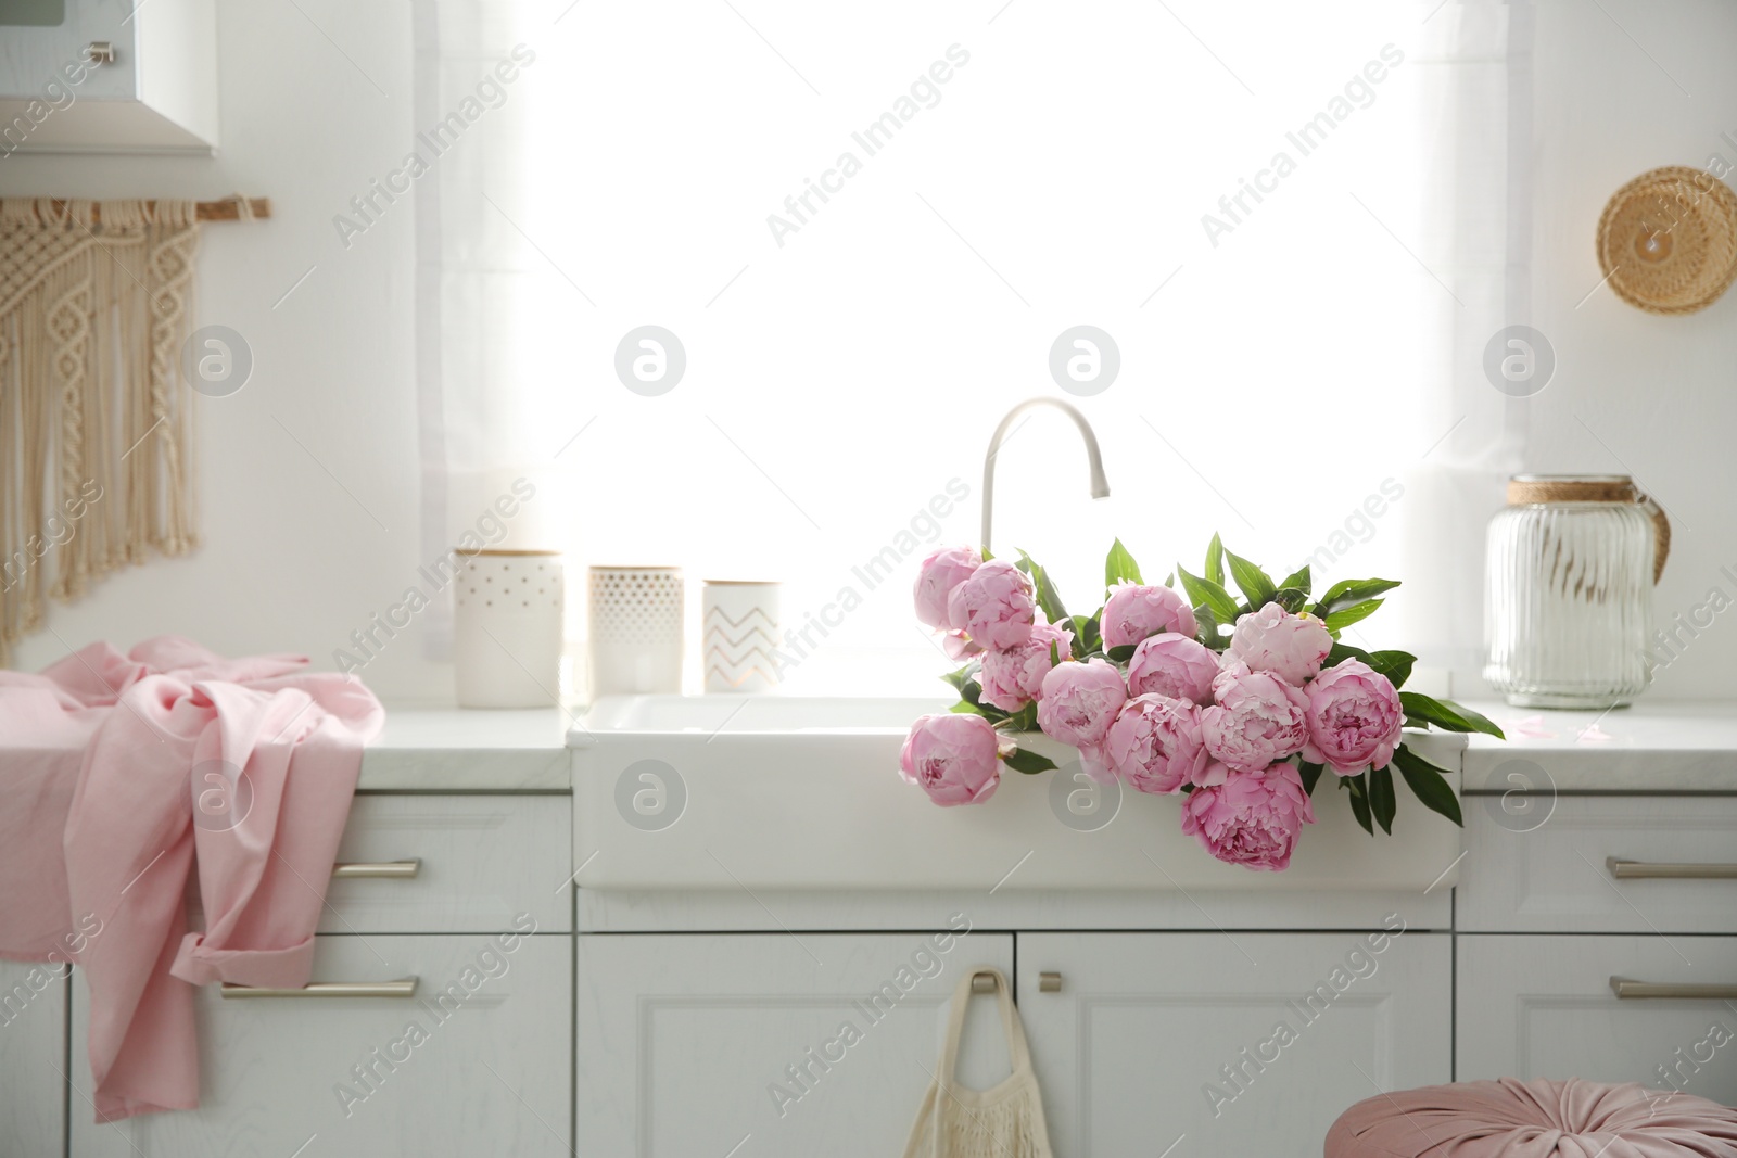
[[[419,563],[412,208],[400,203],[349,250],[332,227],[332,215],[405,153],[410,5],[224,0],[219,57],[215,158],[0,161],[5,196],[245,191],[271,196],[274,212],[207,226],[201,243],[200,323],[233,326],[255,359],[238,394],[196,399],[203,549],[54,606],[59,639],[26,639],[21,668],[64,655],[63,639],[129,646],[163,632],[226,655],[302,651],[332,667],[332,649],[393,602]],[[408,634],[365,679],[398,701],[452,694],[450,672],[426,663]]]

